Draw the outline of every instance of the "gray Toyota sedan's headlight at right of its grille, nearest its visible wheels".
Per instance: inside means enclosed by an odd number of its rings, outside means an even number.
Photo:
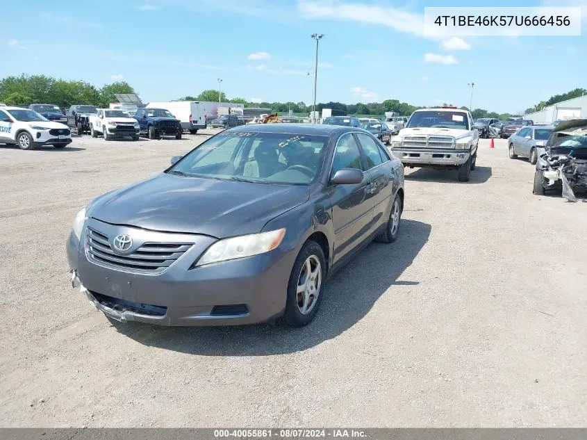
[[[219,261],[243,258],[245,256],[264,254],[278,247],[281,241],[283,241],[284,236],[286,236],[285,228],[261,232],[261,234],[224,238],[224,240],[217,241],[208,247],[208,250],[200,257],[195,267],[217,263]]]

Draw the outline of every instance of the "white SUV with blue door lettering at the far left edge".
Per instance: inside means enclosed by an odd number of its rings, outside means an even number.
[[[28,108],[0,107],[0,143],[35,149],[41,145],[64,148],[71,142],[72,132],[67,125],[49,122]]]

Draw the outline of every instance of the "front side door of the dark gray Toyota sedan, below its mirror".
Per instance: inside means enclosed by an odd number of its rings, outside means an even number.
[[[336,142],[332,158],[333,177],[342,168],[356,168],[365,171],[361,149],[352,133],[343,133]],[[329,186],[334,229],[333,262],[339,261],[360,245],[371,229],[373,218],[373,197],[367,174],[361,184],[340,184]]]

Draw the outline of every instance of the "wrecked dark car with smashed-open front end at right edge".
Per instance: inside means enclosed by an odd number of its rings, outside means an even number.
[[[561,122],[552,131],[545,152],[538,157],[532,193],[562,191],[577,202],[575,191],[587,191],[587,119]]]

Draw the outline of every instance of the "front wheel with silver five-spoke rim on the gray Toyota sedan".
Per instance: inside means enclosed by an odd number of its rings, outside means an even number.
[[[313,274],[311,279],[306,277],[308,266],[310,273]],[[314,319],[322,302],[325,277],[326,263],[322,247],[315,241],[306,241],[295,259],[290,274],[286,311],[281,317],[283,323],[290,327],[304,327]],[[306,311],[303,312],[303,309]]]

